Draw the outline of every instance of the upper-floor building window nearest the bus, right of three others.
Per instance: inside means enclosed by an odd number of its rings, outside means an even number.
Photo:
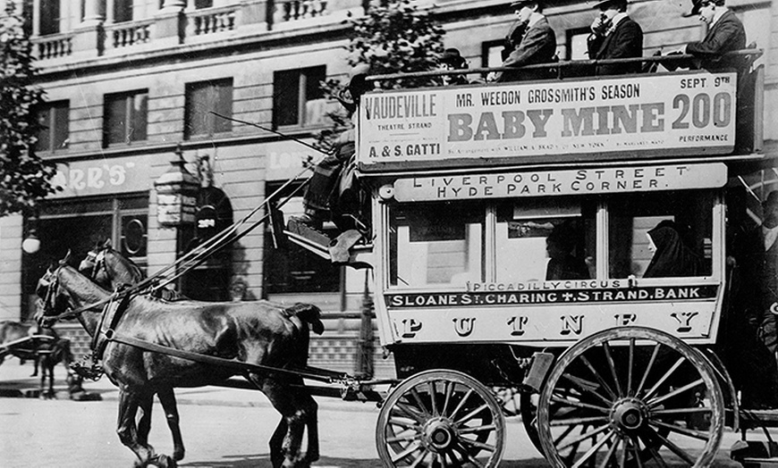
[[[273,74],[275,128],[323,124],[326,99],[320,83],[325,79],[325,66],[275,71]]]

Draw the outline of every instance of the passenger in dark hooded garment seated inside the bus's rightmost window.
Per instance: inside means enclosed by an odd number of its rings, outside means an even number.
[[[702,271],[697,254],[687,246],[675,222],[664,220],[647,232],[648,249],[654,253],[643,278],[698,276]]]

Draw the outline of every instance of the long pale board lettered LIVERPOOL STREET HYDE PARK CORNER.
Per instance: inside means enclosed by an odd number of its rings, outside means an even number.
[[[726,182],[727,168],[723,163],[516,171],[395,180],[394,198],[401,202],[408,202],[592,195],[719,188]]]

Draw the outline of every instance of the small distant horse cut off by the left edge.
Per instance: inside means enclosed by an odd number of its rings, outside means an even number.
[[[47,338],[30,338],[42,336]],[[28,323],[2,322],[0,323],[0,364],[3,364],[6,355],[14,355],[22,360],[35,362],[35,372],[38,374],[40,366],[40,396],[54,397],[54,368],[57,363],[63,363],[69,368],[72,362],[71,342],[60,338],[52,328],[36,327]],[[46,380],[48,378],[48,389]]]

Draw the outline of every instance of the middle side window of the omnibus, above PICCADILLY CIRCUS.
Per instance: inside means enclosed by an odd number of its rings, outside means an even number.
[[[520,199],[496,213],[498,282],[594,278],[594,210],[580,199]]]

